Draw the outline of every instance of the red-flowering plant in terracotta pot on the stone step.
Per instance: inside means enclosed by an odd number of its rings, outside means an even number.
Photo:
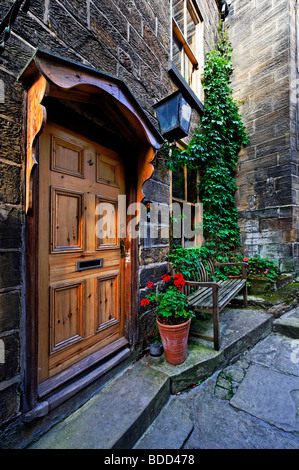
[[[184,294],[185,279],[182,274],[162,276],[161,291],[153,282],[148,282],[148,294],[141,306],[154,303],[157,307],[157,325],[162,340],[165,359],[169,364],[182,364],[187,357],[187,345],[191,318],[194,313],[188,306]]]

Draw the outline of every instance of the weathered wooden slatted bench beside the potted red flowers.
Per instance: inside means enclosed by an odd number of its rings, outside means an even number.
[[[213,315],[213,337],[198,333],[194,335],[214,342],[214,349],[220,349],[219,313],[239,293],[243,293],[244,307],[247,307],[247,263],[213,263],[211,260],[199,262],[198,267],[192,271],[191,279],[186,280],[184,293],[188,296],[190,307],[194,312],[203,312]],[[213,281],[215,269],[220,266],[242,266],[242,275],[237,279]],[[172,274],[176,269],[170,265]]]

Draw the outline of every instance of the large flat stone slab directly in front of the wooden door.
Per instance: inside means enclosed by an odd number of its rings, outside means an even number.
[[[136,363],[32,449],[130,449],[169,398],[169,378]]]

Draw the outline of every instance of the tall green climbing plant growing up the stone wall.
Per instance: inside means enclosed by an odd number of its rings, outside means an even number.
[[[235,169],[242,145],[249,141],[232,97],[232,47],[226,30],[219,27],[219,42],[206,56],[203,87],[204,115],[185,150],[172,152],[170,168],[178,163],[199,168],[200,200],[206,246],[217,252],[240,246],[235,207]]]

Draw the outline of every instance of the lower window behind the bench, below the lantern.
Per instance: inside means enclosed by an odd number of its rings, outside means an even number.
[[[202,244],[199,230],[202,214],[198,199],[198,171],[186,166],[171,172],[171,244],[190,247]],[[196,233],[191,233],[195,228]]]

